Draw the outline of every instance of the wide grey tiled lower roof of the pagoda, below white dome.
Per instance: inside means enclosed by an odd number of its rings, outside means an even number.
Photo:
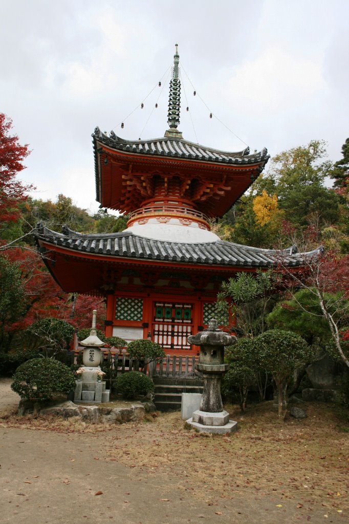
[[[130,233],[80,234],[63,227],[63,233],[49,230],[38,224],[38,242],[45,241],[73,252],[93,253],[122,258],[168,260],[182,263],[270,267],[280,261],[288,266],[301,266],[304,260],[319,254],[321,248],[308,253],[296,253],[295,248],[274,249],[242,246],[221,240],[209,243],[182,244],[144,238]]]

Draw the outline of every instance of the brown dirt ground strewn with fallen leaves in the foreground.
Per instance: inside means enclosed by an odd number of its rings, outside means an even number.
[[[349,428],[333,406],[277,420],[269,402],[205,436],[179,412],[90,424],[17,417],[0,379],[1,521],[125,524],[348,522]],[[2,413],[2,415],[1,415]]]

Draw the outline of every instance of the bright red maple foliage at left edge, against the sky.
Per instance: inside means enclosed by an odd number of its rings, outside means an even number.
[[[12,120],[0,113],[0,222],[18,219],[19,202],[27,199],[26,192],[34,189],[16,180],[23,169],[24,159],[30,154],[28,145],[21,146],[17,135],[10,135]]]

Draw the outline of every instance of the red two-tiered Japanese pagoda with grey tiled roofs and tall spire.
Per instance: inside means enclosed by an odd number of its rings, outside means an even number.
[[[129,213],[112,234],[62,233],[38,225],[36,241],[66,292],[106,298],[106,336],[149,338],[167,354],[190,355],[188,336],[214,316],[221,283],[238,271],[267,269],[279,252],[222,241],[210,219],[226,213],[263,171],[267,149],[221,151],[185,140],[180,121],[179,54],[162,138],[93,137],[96,200]],[[283,252],[290,266],[306,254]]]

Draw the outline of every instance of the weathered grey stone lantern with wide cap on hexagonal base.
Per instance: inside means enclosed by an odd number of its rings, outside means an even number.
[[[236,337],[218,329],[217,321],[211,319],[208,329],[190,335],[188,342],[200,346],[199,364],[196,368],[202,373],[204,389],[200,409],[194,411],[188,424],[207,433],[230,433],[237,429],[237,422],[229,419],[223,410],[221,380],[228,369],[224,364],[224,346],[235,344]]]

